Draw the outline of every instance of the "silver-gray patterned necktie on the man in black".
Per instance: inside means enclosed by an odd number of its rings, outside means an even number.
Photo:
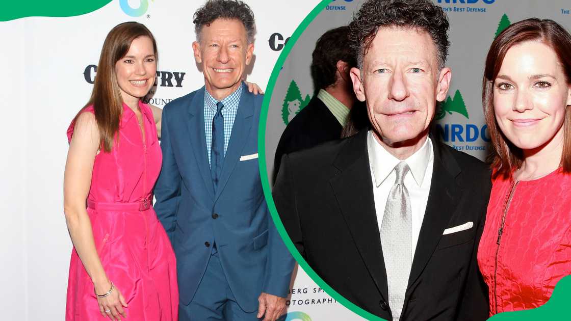
[[[412,265],[411,198],[407,187],[404,186],[404,177],[410,170],[405,162],[395,166],[395,185],[389,192],[380,230],[383,257],[387,267],[389,306],[395,321],[399,320],[403,310]]]

